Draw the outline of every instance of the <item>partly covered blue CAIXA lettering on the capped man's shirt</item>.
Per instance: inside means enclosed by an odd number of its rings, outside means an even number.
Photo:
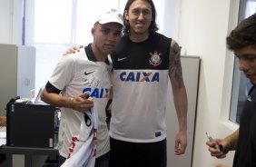
[[[108,98],[109,97],[109,89],[106,88],[84,88],[83,93],[89,93],[90,97],[93,98]]]

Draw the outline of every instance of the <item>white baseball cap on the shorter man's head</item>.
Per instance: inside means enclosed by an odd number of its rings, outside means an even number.
[[[123,25],[123,16],[119,14],[119,12],[115,9],[111,9],[102,15],[100,15],[95,23],[99,22],[99,24],[104,25],[108,23],[117,23]]]

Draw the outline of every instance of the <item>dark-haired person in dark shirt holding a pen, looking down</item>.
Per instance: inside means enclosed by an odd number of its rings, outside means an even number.
[[[256,166],[256,14],[244,19],[226,39],[228,48],[239,59],[239,69],[251,81],[252,88],[241,113],[240,127],[224,139],[208,141],[208,150],[217,158],[235,151],[233,167]],[[216,149],[216,144],[220,150]],[[218,167],[225,165],[218,164]]]

